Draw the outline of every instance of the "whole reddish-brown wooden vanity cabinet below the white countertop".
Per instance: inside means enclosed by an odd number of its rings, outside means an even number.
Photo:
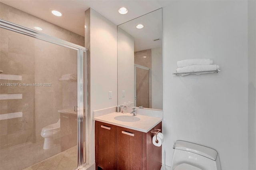
[[[162,129],[162,122],[154,128]],[[151,130],[156,131],[154,128]],[[96,170],[160,170],[162,146],[154,146],[154,133],[150,131],[144,133],[95,121]]]

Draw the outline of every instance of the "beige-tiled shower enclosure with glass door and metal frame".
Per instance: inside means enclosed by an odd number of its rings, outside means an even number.
[[[88,146],[84,37],[63,29],[77,45],[37,32],[29,24],[54,25],[1,3],[3,9],[8,11],[0,19],[0,170],[81,168]],[[22,15],[24,24],[11,18]]]

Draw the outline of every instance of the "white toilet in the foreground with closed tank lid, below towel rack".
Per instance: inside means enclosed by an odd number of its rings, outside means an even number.
[[[218,152],[182,140],[174,145],[171,170],[221,170]]]

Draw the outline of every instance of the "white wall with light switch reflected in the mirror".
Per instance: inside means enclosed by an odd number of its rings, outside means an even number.
[[[118,28],[118,105],[134,102],[134,38]],[[122,96],[125,91],[125,96]],[[134,105],[134,104],[132,104]]]

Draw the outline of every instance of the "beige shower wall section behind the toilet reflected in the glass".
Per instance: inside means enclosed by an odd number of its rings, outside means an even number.
[[[35,83],[51,86],[35,87],[36,139],[43,140],[41,130],[60,119],[61,109],[76,106],[76,81],[59,81],[64,74],[76,74],[76,50],[59,45],[35,41]],[[45,50],[47,49],[47,50]]]

